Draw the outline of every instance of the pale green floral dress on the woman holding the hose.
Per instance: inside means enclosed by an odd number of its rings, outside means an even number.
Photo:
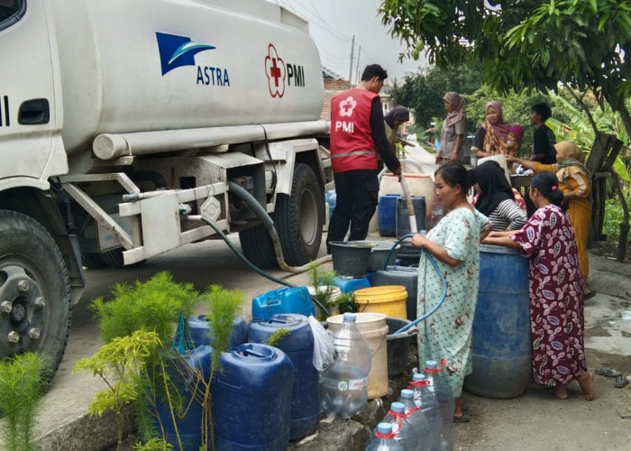
[[[480,283],[480,233],[489,230],[489,219],[474,208],[456,208],[428,232],[427,238],[444,247],[461,263],[452,267],[434,258],[447,282],[443,305],[418,326],[418,359],[446,359],[444,378],[454,397],[462,392],[464,376],[471,373],[471,327]],[[434,266],[421,255],[418,265],[418,317],[441,299],[443,282]]]

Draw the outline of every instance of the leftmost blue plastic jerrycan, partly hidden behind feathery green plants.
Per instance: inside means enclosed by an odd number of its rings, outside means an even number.
[[[202,444],[202,405],[193,400],[202,396],[206,390],[204,383],[198,383],[198,377],[203,374],[205,382],[210,380],[210,359],[213,348],[209,345],[200,345],[195,349],[188,350],[185,354],[173,356],[167,362],[169,377],[171,382],[179,387],[182,397],[182,413],[176,410],[171,415],[169,404],[162,397],[156,400],[156,412],[160,417],[160,424],[164,429],[165,439],[179,449],[176,427],[178,428],[179,439],[184,449],[199,449]],[[173,418],[175,417],[175,424]],[[160,425],[154,420],[157,430]]]

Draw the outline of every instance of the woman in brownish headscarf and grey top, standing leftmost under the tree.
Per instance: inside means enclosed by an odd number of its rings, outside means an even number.
[[[441,150],[436,155],[436,164],[447,161],[462,162],[462,141],[467,130],[467,113],[464,99],[457,92],[448,92],[443,97],[447,118],[441,131]]]

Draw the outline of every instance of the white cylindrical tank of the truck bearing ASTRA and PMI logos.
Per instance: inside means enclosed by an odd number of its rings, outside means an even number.
[[[99,133],[318,119],[306,23],[265,1],[55,0],[69,153]]]

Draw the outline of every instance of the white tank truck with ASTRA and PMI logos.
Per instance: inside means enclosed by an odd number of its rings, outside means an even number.
[[[322,66],[296,15],[263,0],[0,0],[0,61],[0,358],[59,364],[84,267],[216,230],[276,264],[238,189],[273,218],[288,265],[315,259],[333,173]]]

